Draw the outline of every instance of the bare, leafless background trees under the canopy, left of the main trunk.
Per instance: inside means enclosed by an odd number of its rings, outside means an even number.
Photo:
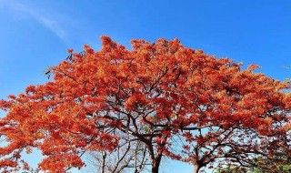
[[[150,165],[146,146],[135,138],[120,134],[121,139],[114,152],[92,151],[87,158],[87,166],[100,173],[145,172]]]

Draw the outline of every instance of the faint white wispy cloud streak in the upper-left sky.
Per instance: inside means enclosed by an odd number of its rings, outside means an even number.
[[[60,21],[59,18],[57,19],[56,17],[42,14],[29,5],[15,2],[13,0],[0,0],[0,7],[11,10],[19,17],[23,17],[23,15],[32,17],[39,24],[44,25],[47,29],[52,31],[55,36],[58,36],[62,40],[64,40],[67,35],[62,26],[62,21]]]

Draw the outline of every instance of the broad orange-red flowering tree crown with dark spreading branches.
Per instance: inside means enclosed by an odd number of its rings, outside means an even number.
[[[86,151],[115,150],[115,130],[145,143],[153,172],[165,155],[197,171],[221,158],[244,167],[254,155],[288,161],[288,83],[177,39],[133,40],[132,50],[101,39],[100,51],[69,49],[48,69],[52,81],[0,102],[1,168],[27,167],[21,154],[32,148],[45,156],[41,169],[82,168]]]

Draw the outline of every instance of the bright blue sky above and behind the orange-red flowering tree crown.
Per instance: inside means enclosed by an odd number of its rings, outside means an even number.
[[[45,83],[45,68],[65,59],[67,48],[99,49],[102,35],[127,47],[132,38],[177,37],[207,54],[260,65],[267,76],[291,75],[284,68],[291,66],[289,0],[0,0],[0,98]],[[186,164],[166,167],[192,172]]]

